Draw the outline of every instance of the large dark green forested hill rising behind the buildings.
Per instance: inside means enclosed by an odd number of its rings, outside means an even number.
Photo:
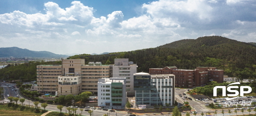
[[[179,69],[217,67],[225,75],[241,78],[256,77],[256,46],[220,36],[200,37],[195,40],[180,40],[156,48],[130,52],[114,52],[105,55],[74,55],[85,62],[101,61],[113,64],[114,58],[129,58],[138,65],[138,72],[149,68],[176,66]]]

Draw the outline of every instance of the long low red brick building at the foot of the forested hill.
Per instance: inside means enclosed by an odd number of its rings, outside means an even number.
[[[223,82],[224,70],[217,70],[216,67],[196,67],[195,70],[177,69],[177,67],[150,68],[150,75],[175,75],[175,86],[177,87],[198,87],[204,86],[210,81]]]

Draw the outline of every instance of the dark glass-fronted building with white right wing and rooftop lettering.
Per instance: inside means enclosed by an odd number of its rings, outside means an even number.
[[[175,103],[175,75],[134,74],[136,106],[173,105]]]

